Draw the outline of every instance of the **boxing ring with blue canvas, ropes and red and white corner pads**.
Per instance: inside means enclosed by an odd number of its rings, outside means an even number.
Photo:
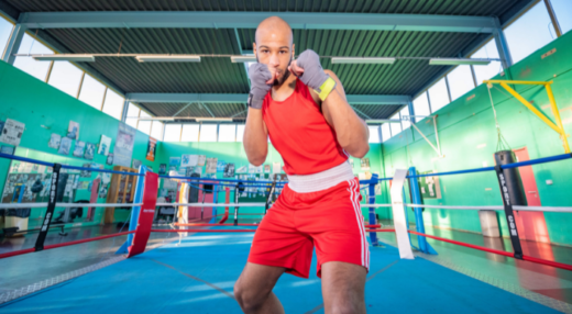
[[[16,159],[26,162],[37,162],[19,156],[0,154],[2,158]],[[438,208],[447,210],[494,210],[509,213],[519,211],[552,211],[569,213],[572,208],[542,208],[542,206],[444,206],[424,205],[417,203],[420,198],[413,191],[411,203],[406,203],[403,198],[403,182],[406,179],[416,179],[422,176],[450,176],[481,171],[496,171],[503,173],[504,169],[521,166],[554,162],[570,159],[572,156],[559,155],[536,160],[515,162],[497,167],[468,169],[430,175],[416,175],[415,169],[396,171],[393,178],[372,177],[361,181],[364,189],[369,189],[369,198],[362,208],[369,208],[366,232],[370,234],[371,267],[367,274],[365,289],[365,304],[370,313],[558,313],[572,312],[564,302],[554,303],[554,300],[537,298],[524,298],[504,289],[486,283],[482,280],[465,276],[449,268],[435,263],[427,258],[438,254],[427,242],[427,238],[464,246],[491,254],[512,257],[527,262],[541,263],[564,270],[572,270],[571,265],[556,260],[539,259],[521,254],[518,247],[513,251],[491,249],[472,244],[438,237],[425,233],[421,209]],[[82,167],[54,165],[43,162],[54,168],[54,173],[59,173],[62,168],[85,170]],[[118,262],[101,267],[70,280],[58,282],[45,289],[31,290],[14,294],[11,298],[0,296],[1,313],[165,313],[168,311],[190,311],[194,313],[241,313],[233,296],[233,285],[239,278],[250,250],[250,245],[256,224],[239,223],[240,208],[258,206],[268,208],[265,203],[238,203],[230,202],[227,190],[226,203],[157,203],[157,189],[160,176],[151,172],[144,166],[139,173],[120,172],[113,170],[89,169],[90,171],[112,172],[120,175],[138,176],[135,197],[131,214],[130,229],[127,232],[92,237],[88,239],[67,242],[57,245],[44,245],[43,238],[50,229],[50,216],[55,208],[69,204],[58,203],[55,198],[47,203],[26,203],[26,208],[46,208],[46,220],[33,248],[14,250],[1,254],[0,259],[14,259],[18,261],[29,254],[42,256],[42,251],[56,249],[63,246],[73,246],[87,242],[100,240],[109,237],[128,236],[124,245],[118,254],[127,256]],[[55,176],[57,178],[57,175]],[[284,182],[277,181],[241,181],[232,179],[211,179],[196,177],[169,177],[165,179],[186,180],[194,184],[208,183],[221,188],[241,183],[254,187],[283,187]],[[375,186],[382,181],[392,180],[392,203],[375,203]],[[54,181],[57,183],[57,181]],[[502,182],[501,182],[501,187]],[[52,184],[57,194],[57,184]],[[415,189],[413,189],[415,190]],[[235,189],[234,191],[239,191]],[[271,190],[272,194],[274,190]],[[418,193],[418,191],[417,191]],[[238,197],[234,198],[238,200]],[[270,199],[270,198],[268,198]],[[503,199],[505,202],[505,199]],[[84,206],[117,206],[118,204],[84,204]],[[124,206],[125,204],[122,204]],[[174,223],[169,228],[154,227],[153,214],[160,205],[190,206],[190,208],[224,208],[224,214],[208,217],[209,222]],[[14,204],[0,204],[0,209],[12,209]],[[389,208],[394,211],[394,227],[382,227],[376,221],[375,208]],[[416,231],[409,228],[405,209],[413,208],[416,217]],[[233,209],[231,213],[230,209]],[[52,212],[51,212],[52,211]],[[395,216],[403,213],[404,221]],[[263,213],[261,213],[263,214]],[[218,222],[217,218],[221,217]],[[507,214],[508,216],[508,214]],[[222,222],[222,223],[220,223]],[[228,223],[227,223],[228,222]],[[516,225],[514,226],[516,229]],[[403,242],[403,236],[407,243]],[[145,250],[146,242],[151,233],[177,233],[179,240],[163,245],[152,250]],[[391,245],[381,240],[381,233],[395,233],[397,245]],[[418,248],[411,256],[410,234],[416,235]],[[43,235],[43,236],[42,236]],[[402,242],[399,239],[402,236]],[[514,238],[512,238],[514,240]],[[406,255],[404,255],[404,253]],[[405,256],[405,257],[404,257]],[[286,313],[323,313],[320,280],[316,277],[316,257],[312,258],[312,268],[309,279],[294,276],[283,276],[274,289],[280,299]],[[484,302],[486,301],[486,302]],[[558,311],[557,311],[558,310]]]

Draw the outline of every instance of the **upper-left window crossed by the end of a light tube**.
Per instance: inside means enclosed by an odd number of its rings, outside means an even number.
[[[24,34],[22,43],[18,49],[19,54],[53,54],[52,49],[44,46],[42,43],[32,38],[29,34]],[[15,57],[14,67],[23,70],[24,72],[42,80],[46,80],[47,70],[50,69],[51,61],[36,61],[32,57]]]

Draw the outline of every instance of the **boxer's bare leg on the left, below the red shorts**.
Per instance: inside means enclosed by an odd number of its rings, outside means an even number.
[[[283,267],[246,262],[234,283],[234,296],[242,311],[246,314],[283,314],[284,307],[272,289],[284,271]]]

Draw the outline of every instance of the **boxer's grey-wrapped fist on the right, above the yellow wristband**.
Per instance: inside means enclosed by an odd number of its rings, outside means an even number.
[[[329,78],[321,67],[320,56],[310,49],[305,51],[296,60],[292,61],[288,70],[314,90],[319,90]]]

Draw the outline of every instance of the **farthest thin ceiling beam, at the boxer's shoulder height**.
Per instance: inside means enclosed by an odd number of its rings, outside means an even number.
[[[141,103],[156,102],[200,102],[200,103],[246,103],[246,93],[148,93],[131,92],[127,100]],[[364,104],[408,104],[411,97],[407,94],[348,94],[349,103]]]

